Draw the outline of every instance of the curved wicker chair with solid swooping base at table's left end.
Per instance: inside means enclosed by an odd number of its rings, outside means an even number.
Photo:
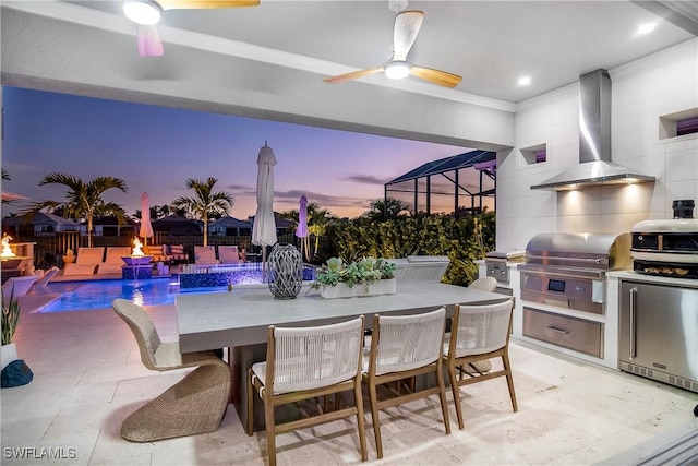
[[[214,351],[180,353],[179,343],[163,343],[145,310],[127,300],[112,303],[131,327],[143,365],[156,371],[196,367],[180,382],[125,418],[121,437],[133,442],[153,442],[174,437],[213,432],[220,427],[228,407],[231,373]]]

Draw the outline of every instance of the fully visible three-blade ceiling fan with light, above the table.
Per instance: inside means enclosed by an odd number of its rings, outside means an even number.
[[[424,12],[419,10],[405,10],[397,13],[395,16],[395,29],[393,32],[393,57],[385,64],[325,77],[323,81],[336,84],[358,80],[383,71],[386,76],[394,80],[400,80],[411,74],[430,83],[446,87],[456,87],[462,77],[445,71],[417,67],[407,62],[407,55],[410,52],[414,39],[417,39],[417,34],[419,33],[423,19]]]

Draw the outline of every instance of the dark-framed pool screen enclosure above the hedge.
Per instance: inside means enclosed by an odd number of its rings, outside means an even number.
[[[495,211],[496,153],[471,151],[428,162],[388,181],[384,196],[397,199],[417,214]]]

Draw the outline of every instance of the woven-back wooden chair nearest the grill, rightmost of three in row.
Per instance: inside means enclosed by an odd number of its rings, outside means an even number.
[[[512,406],[515,413],[518,410],[508,353],[513,307],[514,301],[510,299],[497,304],[456,304],[452,332],[444,343],[443,360],[448,369],[459,429],[464,428],[459,393],[462,385],[506,377]],[[461,374],[460,379],[456,378],[459,367],[497,357],[502,358],[502,370],[488,373],[467,372]]]

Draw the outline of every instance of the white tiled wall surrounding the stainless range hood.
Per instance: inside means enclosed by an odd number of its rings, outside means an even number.
[[[539,232],[630,231],[643,219],[672,218],[673,200],[698,200],[698,134],[660,139],[659,131],[661,116],[698,108],[698,39],[609,73],[612,159],[657,182],[531,190],[579,162],[579,85],[521,103],[515,147],[497,154],[497,250],[525,249]],[[547,160],[529,164],[521,148],[539,144]]]

